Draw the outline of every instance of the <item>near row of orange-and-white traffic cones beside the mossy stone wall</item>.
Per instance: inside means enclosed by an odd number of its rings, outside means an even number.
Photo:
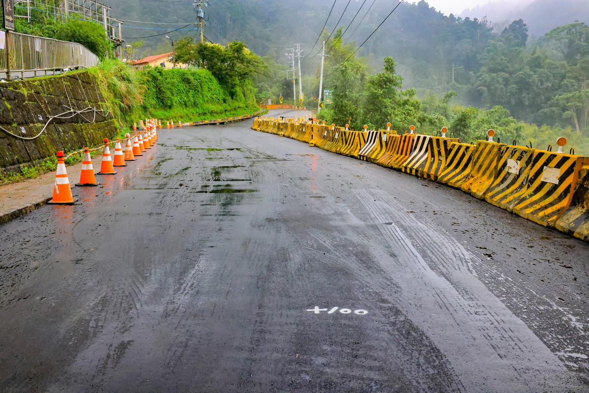
[[[82,171],[80,173],[79,187],[95,187],[98,186],[95,174],[116,174],[114,167],[126,167],[125,161],[135,161],[135,156],[143,156],[143,152],[151,148],[157,141],[157,127],[155,120],[147,121],[143,133],[127,134],[127,146],[125,153],[121,147],[121,140],[117,138],[114,147],[114,159],[111,157],[110,148],[108,145],[110,141],[104,139],[104,150],[102,150],[102,162],[100,165],[100,172],[94,173],[92,168],[92,159],[90,158],[90,149],[84,147],[84,158],[82,158]],[[133,127],[136,128],[135,126]],[[133,140],[133,143],[131,143]],[[55,186],[53,187],[53,199],[47,202],[49,204],[74,204],[76,199],[72,196],[70,188],[70,180],[68,179],[67,171],[65,170],[65,156],[63,151],[57,152],[57,174],[55,174]]]

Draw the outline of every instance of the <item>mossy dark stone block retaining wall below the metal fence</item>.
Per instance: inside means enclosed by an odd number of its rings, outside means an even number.
[[[105,110],[104,102],[97,81],[86,71],[1,83],[0,127],[22,137],[33,137],[42,130],[49,116],[70,108]],[[19,171],[23,164],[55,156],[58,150],[67,154],[82,147],[98,146],[103,138],[116,136],[119,128],[119,121],[111,114],[106,117],[96,114],[94,118],[94,113],[88,112],[55,118],[34,140],[21,140],[0,129],[0,170]]]

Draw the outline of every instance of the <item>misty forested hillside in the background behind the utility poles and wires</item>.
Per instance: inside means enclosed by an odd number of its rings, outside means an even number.
[[[548,16],[550,7],[555,6],[550,1],[537,0],[532,5],[546,13],[545,19],[562,20],[564,25],[538,39],[529,38],[530,25],[525,20],[510,21],[499,32],[485,19],[444,15],[423,0],[418,4],[403,2],[378,29],[396,3],[340,0],[332,9],[332,0],[210,0],[204,35],[220,44],[242,41],[263,57],[266,67],[259,70],[256,81],[259,99],[292,97],[292,84],[284,72],[287,46],[302,46],[303,91],[311,105],[319,90],[320,41],[328,41],[329,74],[339,67],[336,59],[346,60],[337,56],[336,47],[351,54],[372,34],[355,55],[362,59],[365,74],[381,71],[383,58],[394,58],[396,74],[405,88],[415,88],[424,110],[426,103],[443,101],[446,92],[455,91],[446,100],[448,105],[488,109],[501,105],[517,121],[532,124],[518,126],[528,130],[525,138],[544,135],[542,141],[551,141],[557,133],[581,138],[589,134],[589,27],[577,19],[567,21],[565,12]],[[125,25],[169,27],[133,22],[149,21],[174,23],[174,29],[180,28],[173,32],[125,28],[128,42],[144,41],[137,55],[171,51],[164,35],[185,44],[198,36],[196,12],[188,1],[107,2]],[[563,10],[578,4],[558,2]],[[325,88],[333,88],[330,83],[335,83],[333,78],[326,78]],[[431,107],[426,111],[436,114]],[[456,113],[446,120],[452,123]]]

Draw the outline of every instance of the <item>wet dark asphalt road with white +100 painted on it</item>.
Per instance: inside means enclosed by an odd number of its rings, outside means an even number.
[[[1,392],[589,391],[588,244],[251,124],[0,226]]]

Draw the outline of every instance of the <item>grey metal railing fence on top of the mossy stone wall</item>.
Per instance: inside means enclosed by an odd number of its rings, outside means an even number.
[[[54,75],[98,64],[98,57],[76,42],[0,31],[0,42],[2,41],[4,45],[0,45],[0,79]]]

